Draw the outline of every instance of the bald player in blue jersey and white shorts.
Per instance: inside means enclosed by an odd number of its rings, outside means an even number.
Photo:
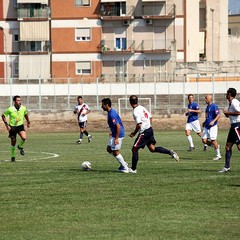
[[[217,142],[218,135],[218,120],[220,118],[220,111],[218,106],[213,103],[212,95],[205,96],[205,102],[207,103],[205,116],[206,119],[203,122],[202,142],[208,146],[213,146],[216,157],[213,160],[219,160],[222,158],[220,153],[220,146]]]

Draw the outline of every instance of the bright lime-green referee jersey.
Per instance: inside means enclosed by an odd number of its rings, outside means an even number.
[[[27,114],[27,109],[24,106],[20,106],[19,110],[17,110],[15,106],[11,106],[3,113],[5,117],[9,116],[10,126],[22,125],[24,121],[24,116],[26,114]]]

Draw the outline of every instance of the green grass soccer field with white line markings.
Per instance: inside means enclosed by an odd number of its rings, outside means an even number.
[[[140,151],[137,174],[118,173],[106,152],[108,133],[28,133],[26,155],[9,161],[9,139],[0,135],[0,239],[240,239],[240,154],[224,166],[213,149],[187,152],[184,132],[156,132],[168,155]],[[131,165],[133,139],[122,154]],[[83,161],[92,163],[84,172]]]

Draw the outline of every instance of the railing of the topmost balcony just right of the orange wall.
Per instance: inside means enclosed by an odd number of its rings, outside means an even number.
[[[100,16],[103,20],[119,18],[134,18],[134,6],[118,7],[102,3]]]

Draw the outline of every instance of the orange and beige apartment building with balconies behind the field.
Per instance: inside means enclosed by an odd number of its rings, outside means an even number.
[[[226,61],[228,0],[1,0],[0,82],[164,81]]]

